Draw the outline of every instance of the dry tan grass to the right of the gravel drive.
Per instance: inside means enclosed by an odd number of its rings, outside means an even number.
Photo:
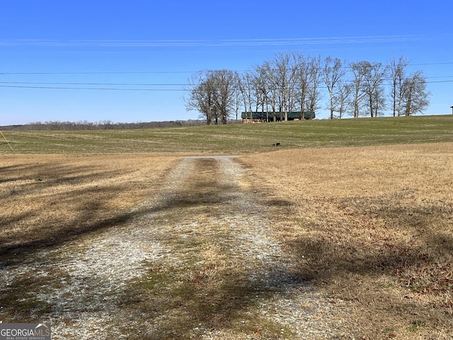
[[[453,143],[243,159],[301,275],[349,301],[362,339],[451,339]]]

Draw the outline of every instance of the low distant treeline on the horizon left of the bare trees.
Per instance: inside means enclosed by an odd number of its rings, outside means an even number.
[[[229,123],[236,123],[231,120]],[[110,120],[91,123],[86,120],[79,122],[46,121],[28,123],[24,125],[1,126],[4,131],[25,131],[25,130],[132,130],[149,128],[175,128],[183,126],[206,125],[205,120],[169,120],[164,122],[139,122],[139,123],[113,123]]]

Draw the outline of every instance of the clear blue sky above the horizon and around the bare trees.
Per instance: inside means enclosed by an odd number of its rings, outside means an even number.
[[[426,114],[452,113],[452,9],[450,0],[0,0],[0,125],[196,119],[181,91],[191,74],[241,72],[290,50],[385,64],[404,56],[429,82]]]

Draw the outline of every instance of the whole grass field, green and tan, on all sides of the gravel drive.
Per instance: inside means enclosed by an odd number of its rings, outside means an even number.
[[[180,154],[244,154],[250,190],[279,203],[263,212],[275,237],[301,276],[348,304],[356,334],[451,339],[453,117],[6,137],[16,154],[0,144],[2,260],[127,222]]]

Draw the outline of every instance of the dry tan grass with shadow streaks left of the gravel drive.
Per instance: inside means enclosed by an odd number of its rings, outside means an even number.
[[[62,244],[126,222],[130,209],[154,194],[176,159],[151,154],[4,155],[0,254]]]

